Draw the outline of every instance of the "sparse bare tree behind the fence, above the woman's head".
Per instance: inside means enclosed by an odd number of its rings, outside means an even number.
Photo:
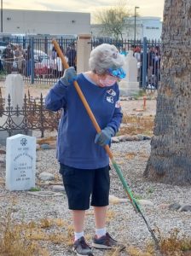
[[[102,9],[95,14],[96,23],[101,24],[101,33],[113,36],[115,39],[123,39],[125,20],[130,16],[130,11],[124,0],[119,0],[117,5],[108,9]]]

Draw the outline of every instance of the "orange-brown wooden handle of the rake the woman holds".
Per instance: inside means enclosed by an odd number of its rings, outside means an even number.
[[[56,50],[57,54],[60,56],[61,62],[62,62],[62,64],[63,64],[64,68],[68,68],[69,65],[67,64],[67,61],[66,61],[66,59],[65,59],[65,56],[64,56],[63,52],[61,51],[61,48],[60,48],[59,44],[57,43],[57,41],[56,41],[55,39],[52,40],[52,44],[54,44],[55,50]],[[98,125],[98,123],[97,123],[97,121],[96,121],[96,118],[95,118],[94,114],[92,113],[92,111],[91,111],[91,109],[90,109],[89,103],[86,101],[86,99],[85,99],[85,97],[84,97],[84,94],[83,94],[82,90],[80,89],[80,87],[79,87],[77,81],[73,81],[73,85],[74,85],[75,89],[76,89],[77,92],[78,92],[78,96],[80,97],[81,101],[82,101],[83,104],[84,104],[84,108],[86,109],[88,115],[90,116],[90,119],[91,119],[92,124],[94,125],[94,127],[95,127],[95,129],[96,129],[96,132],[97,132],[97,133],[100,133],[100,132],[101,132],[101,128],[100,128],[100,126]],[[111,160],[113,160],[113,154],[112,154],[112,152],[111,152],[109,146],[106,145],[104,148],[106,149],[106,152],[107,152],[109,158],[110,158]]]

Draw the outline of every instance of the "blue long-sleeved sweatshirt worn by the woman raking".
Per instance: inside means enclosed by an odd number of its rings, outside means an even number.
[[[101,88],[86,79],[83,73],[78,75],[77,82],[101,129],[110,126],[115,133],[119,131],[122,119],[119,85]],[[96,129],[73,84],[65,86],[59,80],[49,90],[45,105],[52,111],[64,110],[56,153],[61,164],[79,169],[97,169],[109,164],[105,149],[95,143]]]

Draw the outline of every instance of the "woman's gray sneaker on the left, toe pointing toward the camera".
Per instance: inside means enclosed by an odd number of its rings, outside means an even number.
[[[73,251],[77,253],[78,256],[88,255],[93,256],[91,248],[85,242],[84,236],[80,237],[77,241],[73,243]]]

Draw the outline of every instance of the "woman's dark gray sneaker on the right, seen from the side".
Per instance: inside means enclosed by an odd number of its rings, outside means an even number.
[[[105,236],[101,236],[100,238],[96,238],[96,236],[93,238],[93,244],[92,247],[95,247],[97,249],[113,249],[113,248],[119,248],[120,251],[124,250],[125,246],[118,241],[114,240],[109,233],[106,233]]]

